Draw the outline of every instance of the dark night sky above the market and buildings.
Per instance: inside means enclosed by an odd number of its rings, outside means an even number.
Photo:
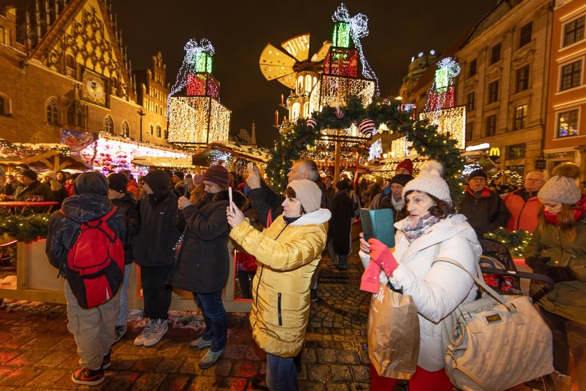
[[[397,95],[411,58],[419,52],[445,52],[497,0],[346,0],[350,15],[368,16],[370,34],[362,38],[364,54],[380,83],[382,96]],[[267,43],[280,48],[292,36],[310,33],[310,57],[331,40],[333,0],[112,0],[123,45],[133,69],[148,68],[157,52],[167,64],[167,82],[174,84],[191,38],[211,41],[213,76],[220,82],[220,101],[232,110],[230,133],[250,131],[255,121],[257,142],[270,147],[278,137],[273,127],[280,94],[289,89],[268,81],[258,66]],[[283,50],[284,51],[284,50]],[[359,67],[359,69],[361,69]]]

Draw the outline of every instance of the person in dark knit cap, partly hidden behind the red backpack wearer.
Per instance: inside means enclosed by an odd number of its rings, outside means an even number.
[[[128,276],[133,263],[133,239],[140,230],[140,209],[133,193],[128,191],[126,175],[121,173],[108,175],[108,198],[122,212],[126,223],[126,236],[122,238],[124,246],[124,280],[120,288],[120,311],[116,320],[116,341],[126,333],[128,318]]]

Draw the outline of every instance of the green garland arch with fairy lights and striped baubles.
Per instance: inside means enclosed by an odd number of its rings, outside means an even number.
[[[274,191],[284,190],[282,179],[286,177],[292,161],[301,158],[303,152],[315,145],[321,129],[349,128],[353,122],[359,124],[363,119],[372,119],[377,128],[385,124],[400,137],[407,136],[419,155],[443,163],[444,177],[457,205],[463,195],[460,178],[465,162],[460,157],[456,140],[451,139],[449,134],[437,133],[437,126],[430,125],[428,120],[414,121],[412,113],[400,110],[400,105],[400,101],[377,99],[364,108],[361,100],[352,96],[340,107],[344,114],[342,118],[336,116],[336,108],[326,106],[321,112],[313,112],[313,119],[317,121],[315,128],[308,128],[306,119],[298,119],[292,129],[283,133],[281,142],[276,142],[275,148],[271,149],[271,160],[266,165],[269,186]]]

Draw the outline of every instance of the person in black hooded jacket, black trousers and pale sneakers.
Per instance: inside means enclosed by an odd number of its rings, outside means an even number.
[[[177,197],[169,189],[170,177],[163,170],[144,176],[146,196],[138,200],[140,230],[133,241],[135,262],[140,265],[144,317],[147,326],[135,338],[135,346],[153,346],[167,332],[171,286],[167,276],[175,263],[181,231],[177,227]]]

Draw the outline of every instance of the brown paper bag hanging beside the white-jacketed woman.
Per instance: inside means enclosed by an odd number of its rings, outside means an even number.
[[[380,284],[368,311],[368,358],[377,374],[409,379],[419,358],[419,317],[410,295]]]

